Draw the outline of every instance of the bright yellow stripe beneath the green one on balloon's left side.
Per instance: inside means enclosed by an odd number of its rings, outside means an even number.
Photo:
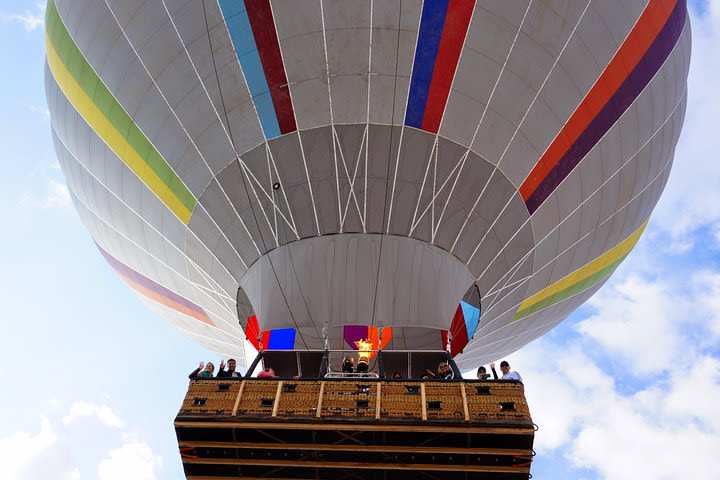
[[[190,221],[191,212],[170,188],[145,163],[142,157],[128,143],[125,137],[110,123],[100,109],[75,81],[55,51],[50,38],[45,34],[47,62],[55,81],[70,103],[85,119],[90,128],[105,141],[110,149],[152,190],[160,200],[185,224]]]

